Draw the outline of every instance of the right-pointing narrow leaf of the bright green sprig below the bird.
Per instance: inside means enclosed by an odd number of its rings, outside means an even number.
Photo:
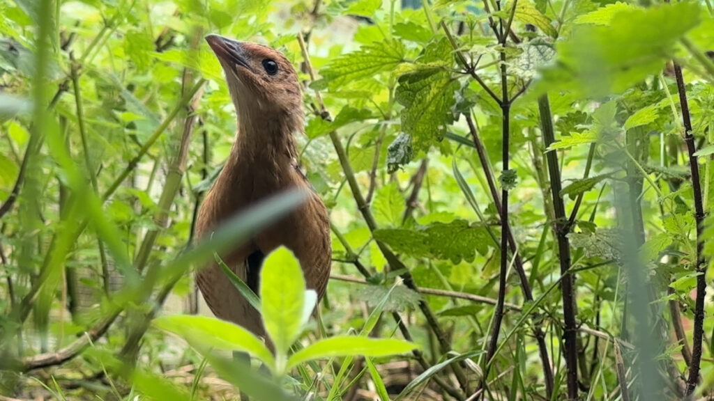
[[[418,345],[395,338],[370,338],[353,335],[339,335],[313,342],[308,347],[295,352],[288,359],[288,369],[308,360],[328,357],[346,357],[363,355],[383,357],[409,352]]]

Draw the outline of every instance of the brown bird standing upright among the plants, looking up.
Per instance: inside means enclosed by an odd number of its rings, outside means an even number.
[[[206,41],[226,73],[238,133],[198,211],[196,238],[210,235],[223,221],[268,196],[304,188],[310,193],[306,203],[221,257],[257,294],[263,259],[285,245],[300,261],[307,287],[316,290],[319,299],[330,275],[330,223],[324,203],[298,165],[293,135],[304,132],[298,75],[285,56],[269,47],[218,35],[208,35]],[[218,318],[265,337],[260,315],[216,263],[199,270],[196,282]]]

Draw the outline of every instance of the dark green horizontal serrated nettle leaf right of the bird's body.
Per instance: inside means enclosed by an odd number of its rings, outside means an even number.
[[[451,260],[452,263],[471,262],[476,252],[486,255],[488,244],[492,242],[486,228],[471,225],[466,220],[419,225],[413,230],[384,228],[376,230],[374,238],[397,253],[415,258]]]

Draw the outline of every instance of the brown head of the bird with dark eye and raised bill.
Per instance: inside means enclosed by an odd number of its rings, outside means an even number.
[[[206,41],[226,73],[238,116],[302,116],[298,74],[283,54],[218,35],[208,35]]]

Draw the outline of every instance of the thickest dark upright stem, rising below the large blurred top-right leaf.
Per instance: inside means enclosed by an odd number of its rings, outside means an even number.
[[[553,119],[550,113],[550,102],[548,95],[538,98],[538,111],[540,114],[540,128],[543,132],[543,144],[548,148],[555,142],[553,131]],[[563,293],[563,320],[565,339],[565,382],[568,385],[568,399],[578,399],[578,325],[575,322],[577,308],[575,305],[575,288],[573,288],[573,275],[570,270],[570,241],[568,232],[570,226],[568,217],[565,215],[565,204],[560,196],[562,184],[560,181],[560,168],[558,167],[558,153],[550,151],[546,153],[548,162],[548,173],[550,175],[550,190],[553,194],[553,209],[555,211],[555,221],[553,221],[553,233],[558,240],[558,259],[560,260],[560,290]]]

